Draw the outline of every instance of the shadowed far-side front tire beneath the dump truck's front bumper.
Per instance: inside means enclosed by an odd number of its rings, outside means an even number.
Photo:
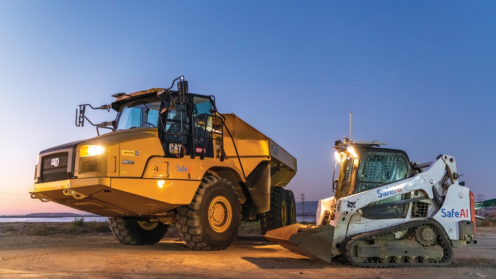
[[[110,217],[110,230],[127,245],[152,245],[167,233],[169,225],[138,220],[136,217]]]

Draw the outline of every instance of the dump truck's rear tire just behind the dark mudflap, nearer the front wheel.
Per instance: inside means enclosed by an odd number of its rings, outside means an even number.
[[[260,214],[260,230],[265,234],[269,230],[284,227],[288,222],[286,191],[280,186],[270,187],[269,211]]]

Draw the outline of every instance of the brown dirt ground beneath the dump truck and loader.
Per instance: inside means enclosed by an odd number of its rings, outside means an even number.
[[[174,230],[156,245],[127,246],[110,233],[27,235],[30,224],[0,222],[0,279],[496,278],[496,227],[478,228],[478,244],[455,248],[447,268],[365,269],[299,256],[246,229],[227,250],[200,252]]]

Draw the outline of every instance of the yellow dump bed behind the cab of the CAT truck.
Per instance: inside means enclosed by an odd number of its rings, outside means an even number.
[[[286,186],[296,174],[296,158],[235,114],[224,114],[224,116],[226,117],[226,126],[233,136],[234,142],[236,142],[246,176],[248,177],[259,164],[268,162],[270,165],[270,185]],[[227,131],[224,131],[224,151],[227,158],[234,160],[236,165],[240,167],[233,140]]]

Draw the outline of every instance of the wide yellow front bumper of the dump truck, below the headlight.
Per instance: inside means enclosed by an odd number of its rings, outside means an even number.
[[[161,216],[191,202],[199,181],[78,178],[35,183],[31,198],[102,216]]]

